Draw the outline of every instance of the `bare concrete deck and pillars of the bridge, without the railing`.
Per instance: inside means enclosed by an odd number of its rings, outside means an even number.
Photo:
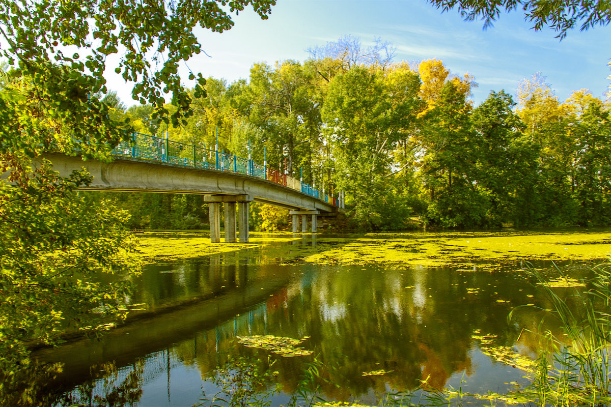
[[[89,171],[93,181],[83,190],[206,195],[204,200],[210,209],[211,242],[220,242],[221,204],[225,212],[225,242],[238,241],[238,226],[239,242],[248,242],[248,206],[252,201],[290,209],[293,232],[297,231],[299,215],[302,232],[306,229],[307,215],[312,216],[312,232],[315,232],[317,215],[334,215],[337,211],[337,207],[301,191],[227,171],[154,164],[133,159],[103,163],[63,154],[48,154],[45,158],[53,163],[54,170],[62,176],[68,176],[73,170],[81,168]],[[40,164],[40,160],[35,160],[33,164]]]

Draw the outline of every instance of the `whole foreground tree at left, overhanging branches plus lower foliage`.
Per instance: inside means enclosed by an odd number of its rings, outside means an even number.
[[[99,333],[104,317],[128,311],[129,273],[139,269],[122,226],[128,216],[107,201],[87,203],[76,189],[89,175],[62,178],[43,157],[78,151],[109,160],[127,137],[112,100],[100,99],[109,93],[107,57],[121,52],[115,71],[134,82],[134,100],[152,104],[153,120],[184,124],[192,98],[205,96],[201,74],[192,95],[178,74],[201,49],[192,29],[225,31],[230,13],[247,5],[265,19],[274,4],[0,0],[0,55],[12,67],[0,90],[0,392],[28,363],[25,339],[57,344],[67,329]],[[103,281],[111,274],[122,277]]]

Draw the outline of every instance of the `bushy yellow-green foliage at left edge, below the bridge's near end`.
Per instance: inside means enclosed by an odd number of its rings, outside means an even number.
[[[30,364],[28,345],[55,345],[67,330],[94,336],[128,312],[139,272],[124,211],[92,206],[75,191],[86,173],[61,178],[48,161],[0,182],[0,394]],[[115,276],[111,276],[115,275]]]

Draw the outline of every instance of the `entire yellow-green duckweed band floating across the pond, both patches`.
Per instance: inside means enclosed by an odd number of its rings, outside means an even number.
[[[309,236],[309,235],[306,235]],[[274,248],[279,264],[457,267],[460,272],[496,272],[503,262],[598,260],[611,253],[609,232],[428,232],[368,233],[346,237],[274,232],[251,234],[250,243],[210,243],[206,231],[145,232],[139,250],[147,262],[195,258],[293,243]],[[314,243],[315,242],[315,243]],[[521,272],[522,270],[516,270]]]

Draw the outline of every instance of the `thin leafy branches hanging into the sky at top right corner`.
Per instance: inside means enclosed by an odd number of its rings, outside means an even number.
[[[524,18],[540,31],[550,27],[566,37],[567,31],[580,26],[581,31],[595,26],[606,26],[611,21],[609,0],[428,0],[437,9],[447,12],[455,7],[466,21],[484,21],[484,28],[492,26],[501,12],[522,9]]]

